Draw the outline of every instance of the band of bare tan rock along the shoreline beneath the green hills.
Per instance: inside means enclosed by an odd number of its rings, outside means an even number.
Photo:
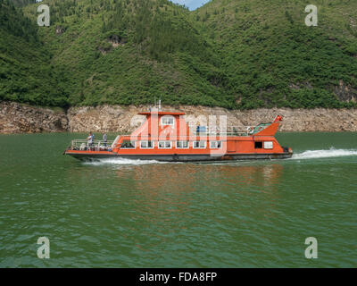
[[[290,109],[261,108],[228,110],[206,106],[162,106],[163,110],[182,111],[187,120],[195,122],[209,115],[227,116],[228,125],[248,126],[271,122],[277,114],[284,117],[279,131],[357,131],[357,109]],[[56,108],[0,102],[0,133],[37,132],[130,132],[144,116],[148,106],[101,105],[71,107],[67,111]]]

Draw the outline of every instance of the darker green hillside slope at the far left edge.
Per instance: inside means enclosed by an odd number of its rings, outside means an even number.
[[[6,0],[0,7],[0,100],[68,105],[37,25]]]

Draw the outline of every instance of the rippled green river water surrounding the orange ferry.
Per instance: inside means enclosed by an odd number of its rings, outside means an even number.
[[[86,135],[0,136],[0,267],[357,266],[357,133],[279,133],[276,161],[62,156]]]

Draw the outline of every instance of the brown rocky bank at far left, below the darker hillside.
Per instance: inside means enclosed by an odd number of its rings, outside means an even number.
[[[0,102],[0,133],[61,132],[68,130],[64,112],[49,108]]]

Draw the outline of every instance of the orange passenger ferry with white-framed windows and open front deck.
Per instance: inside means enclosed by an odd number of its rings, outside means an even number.
[[[160,106],[160,105],[159,105]],[[293,156],[289,147],[281,147],[274,138],[281,116],[274,122],[237,130],[235,127],[190,128],[182,112],[149,112],[145,122],[130,135],[119,135],[113,141],[87,143],[72,140],[63,154],[80,160],[127,158],[169,162],[200,162],[251,159],[284,159]]]

